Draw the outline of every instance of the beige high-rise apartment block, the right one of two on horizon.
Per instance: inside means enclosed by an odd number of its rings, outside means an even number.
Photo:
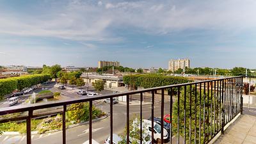
[[[169,70],[172,72],[178,70],[179,68],[183,69],[186,67],[190,68],[190,60],[188,58],[169,61]]]

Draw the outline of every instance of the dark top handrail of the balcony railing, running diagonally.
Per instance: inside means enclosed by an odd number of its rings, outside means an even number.
[[[33,111],[36,109],[52,108],[52,107],[56,107],[56,106],[64,106],[64,105],[67,106],[69,104],[75,104],[75,103],[79,103],[79,102],[89,102],[89,101],[93,101],[93,100],[108,99],[111,97],[113,98],[113,97],[120,97],[120,96],[124,96],[124,95],[133,95],[133,94],[137,94],[137,93],[152,92],[155,90],[175,88],[175,87],[186,86],[186,85],[191,85],[191,84],[209,83],[209,82],[214,82],[214,81],[221,81],[223,79],[233,79],[233,78],[237,78],[237,77],[244,77],[244,76],[225,77],[225,78],[221,78],[221,79],[212,79],[212,80],[199,81],[199,82],[193,82],[193,83],[172,84],[172,85],[168,85],[168,86],[145,88],[143,90],[134,90],[134,91],[130,91],[130,92],[108,93],[108,94],[104,94],[104,95],[95,95],[93,97],[82,97],[82,98],[77,98],[77,99],[72,99],[72,100],[58,100],[58,101],[44,102],[41,104],[12,106],[12,107],[0,108],[0,115],[6,115],[6,114],[10,114],[10,113],[19,113],[19,112],[24,112],[24,111]]]

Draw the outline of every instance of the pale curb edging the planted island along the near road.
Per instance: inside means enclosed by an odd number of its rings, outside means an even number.
[[[100,118],[94,119],[94,120],[92,120],[92,122],[98,122],[100,120],[104,120],[105,118],[108,118],[108,114],[106,114],[106,116],[102,116]],[[79,123],[79,124],[74,124],[74,125],[68,125],[68,127],[66,129],[70,129],[70,128],[73,128],[73,127],[78,127],[80,125],[85,125],[85,124],[89,124],[89,121],[82,122],[82,123]],[[47,134],[47,133],[50,133],[50,132],[56,132],[56,131],[62,131],[62,129],[47,131],[47,132],[44,132],[44,134]],[[38,134],[38,131],[31,131],[31,135],[32,134]],[[7,131],[7,132],[3,132],[2,135],[26,135],[26,134],[20,134],[20,132],[17,132],[17,131]]]

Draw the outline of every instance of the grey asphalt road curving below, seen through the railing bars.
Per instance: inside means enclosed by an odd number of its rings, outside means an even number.
[[[164,104],[164,111],[168,113],[170,105],[168,102]],[[101,103],[97,106],[98,108],[109,111],[109,104]],[[156,103],[154,106],[154,115],[160,116],[161,106],[160,103]],[[130,118],[140,115],[140,106],[130,106]],[[148,118],[151,115],[151,106],[143,106],[143,118]],[[113,105],[113,132],[116,134],[122,133],[126,125],[126,106],[122,104]],[[88,128],[89,125],[80,125],[67,129],[67,143],[83,143],[88,140]],[[110,133],[110,122],[109,116],[104,120],[93,122],[93,139],[99,143],[104,143],[104,140],[108,138]],[[50,132],[45,134],[33,134],[32,143],[61,143],[62,132]],[[3,135],[0,137],[1,143],[26,143],[26,136],[22,135]]]

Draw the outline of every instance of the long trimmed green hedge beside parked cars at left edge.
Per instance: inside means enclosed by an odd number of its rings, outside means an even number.
[[[0,99],[3,99],[4,95],[12,93],[14,90],[22,90],[38,83],[44,83],[48,79],[50,79],[49,74],[34,74],[0,79]]]

